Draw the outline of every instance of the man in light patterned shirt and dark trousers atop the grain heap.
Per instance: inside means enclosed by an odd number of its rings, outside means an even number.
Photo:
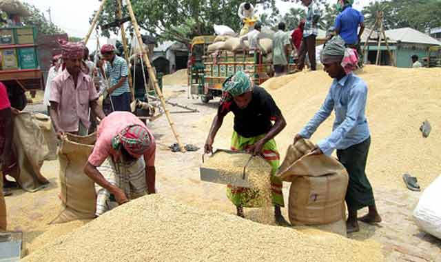
[[[311,63],[311,70],[316,70],[316,37],[318,35],[318,20],[320,20],[320,9],[314,0],[302,0],[302,4],[307,6],[305,28],[303,30],[303,41],[298,57],[298,70],[305,67],[306,54]]]

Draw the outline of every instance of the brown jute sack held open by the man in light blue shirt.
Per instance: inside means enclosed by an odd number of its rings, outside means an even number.
[[[308,154],[314,148],[305,139],[290,145],[277,174],[291,182],[288,212],[292,225],[323,225],[345,217],[347,171],[334,158]]]

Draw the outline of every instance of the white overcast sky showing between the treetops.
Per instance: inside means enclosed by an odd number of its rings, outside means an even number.
[[[94,10],[98,10],[101,4],[98,0],[75,0],[75,1],[60,1],[60,0],[22,0],[37,6],[39,10],[46,11],[50,8],[52,23],[55,23],[61,29],[69,34],[70,37],[85,37],[90,28],[89,19]],[[370,1],[375,0],[356,0],[353,7],[361,10],[363,6],[369,4]],[[329,0],[329,2],[336,2],[336,0]],[[289,10],[292,7],[300,7],[300,4],[277,1],[277,7],[283,14],[283,11]],[[45,17],[48,17],[48,12],[45,12]],[[101,43],[105,43],[105,39],[100,38]],[[96,38],[92,35],[90,43],[88,43],[90,50],[96,48]]]

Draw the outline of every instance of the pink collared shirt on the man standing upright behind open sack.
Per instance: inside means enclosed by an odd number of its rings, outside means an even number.
[[[90,102],[98,99],[92,79],[80,72],[75,87],[74,79],[64,70],[52,80],[50,101],[59,103],[60,128],[64,132],[77,132],[79,121],[89,128]]]

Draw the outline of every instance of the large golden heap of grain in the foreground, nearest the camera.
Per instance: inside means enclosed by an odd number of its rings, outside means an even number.
[[[367,257],[382,261],[380,245],[261,225],[156,194],[107,212],[23,261],[354,262]]]

